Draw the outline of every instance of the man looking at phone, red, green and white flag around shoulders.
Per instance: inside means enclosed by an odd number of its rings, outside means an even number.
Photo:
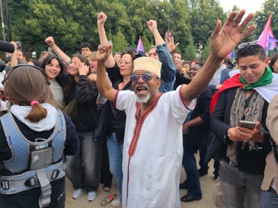
[[[271,150],[265,125],[268,103],[278,93],[278,76],[268,67],[258,41],[238,45],[239,72],[226,80],[211,101],[211,131],[224,142],[219,177],[224,207],[261,207],[265,157]],[[239,123],[254,121],[254,128]]]

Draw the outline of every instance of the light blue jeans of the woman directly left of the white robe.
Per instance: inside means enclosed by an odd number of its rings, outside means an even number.
[[[107,140],[110,171],[115,178],[117,188],[120,191],[120,201],[122,202],[122,148],[123,144],[117,142],[117,136],[112,133]]]

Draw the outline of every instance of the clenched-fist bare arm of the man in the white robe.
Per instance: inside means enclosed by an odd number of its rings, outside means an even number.
[[[112,53],[112,44],[100,44],[97,50],[97,89],[99,94],[104,96],[108,101],[113,102],[117,90],[111,86],[106,76],[105,62]]]

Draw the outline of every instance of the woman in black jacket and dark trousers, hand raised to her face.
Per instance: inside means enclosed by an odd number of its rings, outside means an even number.
[[[97,109],[97,85],[88,80],[89,62],[81,54],[72,55],[70,73],[58,80],[65,85],[66,107],[75,125],[79,137],[79,153],[67,157],[67,177],[73,184],[72,198],[77,199],[88,190],[88,201],[95,200],[99,187],[99,171],[101,165],[100,144],[93,141],[95,126],[99,119]],[[64,83],[64,84],[63,84]]]

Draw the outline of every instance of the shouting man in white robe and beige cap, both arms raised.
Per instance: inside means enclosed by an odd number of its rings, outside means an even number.
[[[142,57],[134,60],[131,74],[134,92],[117,91],[108,83],[105,62],[111,44],[99,45],[97,87],[115,107],[126,112],[123,149],[122,207],[180,207],[182,128],[195,98],[204,90],[220,62],[255,28],[250,14],[239,25],[245,10],[231,12],[224,26],[218,21],[211,35],[211,53],[189,85],[161,94],[161,62]],[[150,21],[151,22],[151,21]]]

